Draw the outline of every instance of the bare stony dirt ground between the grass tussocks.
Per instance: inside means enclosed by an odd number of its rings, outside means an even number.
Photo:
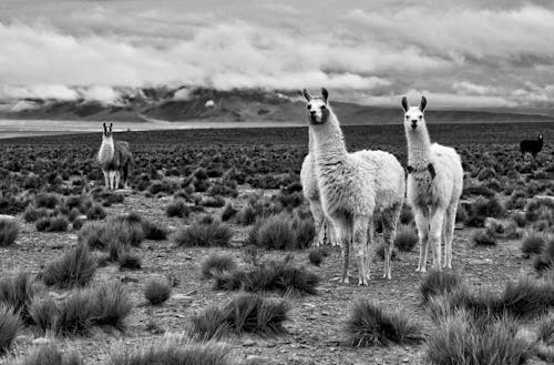
[[[267,191],[266,191],[267,193]],[[145,197],[131,194],[123,204],[106,209],[109,215],[124,212],[138,212],[142,216],[174,232],[185,226],[192,219],[168,219],[163,209],[171,197]],[[239,199],[240,200],[240,196]],[[234,201],[239,206],[239,201]],[[217,209],[209,209],[212,212]],[[232,224],[233,243],[240,244],[249,227]],[[471,236],[474,229],[455,231],[453,266],[476,288],[500,291],[504,283],[522,273],[531,272],[529,260],[522,258],[519,241],[501,241],[497,246],[481,249],[473,246]],[[2,276],[18,271],[38,274],[49,261],[63,254],[76,244],[78,232],[39,233],[34,225],[22,224],[20,239],[10,247],[0,249]],[[378,240],[381,240],[379,236]],[[212,252],[226,252],[244,262],[244,250],[236,249],[182,249],[175,247],[171,237],[167,241],[146,241],[135,249],[142,257],[143,268],[121,272],[116,265],[99,268],[94,283],[116,280],[124,283],[131,294],[134,308],[126,320],[126,328],[119,332],[110,328],[94,328],[91,336],[55,339],[62,349],[76,349],[86,364],[102,364],[109,354],[116,349],[144,347],[162,339],[168,334],[186,336],[189,317],[209,305],[219,305],[233,293],[217,292],[212,282],[203,280],[199,265]],[[340,253],[331,251],[320,267],[309,264],[307,251],[294,252],[295,261],[307,265],[317,273],[321,283],[318,295],[289,297],[290,321],[286,322],[287,335],[275,338],[243,336],[227,338],[233,355],[242,361],[253,356],[271,359],[275,364],[423,364],[424,345],[391,346],[375,348],[352,348],[341,345],[345,338],[343,325],[349,310],[357,297],[366,297],[388,308],[401,307],[424,328],[432,326],[421,306],[418,285],[420,274],[416,273],[418,249],[399,253],[393,262],[392,280],[381,278],[382,261],[376,258],[372,266],[371,283],[367,287],[338,283],[340,274]],[[264,252],[264,257],[281,257],[288,252]],[[161,306],[146,304],[143,285],[147,278],[162,275],[177,278],[172,297]],[[352,282],[356,282],[352,280]],[[55,296],[68,292],[47,292]],[[153,333],[148,323],[155,323],[163,333]],[[30,348],[44,342],[29,329],[18,337],[12,354],[25,354]],[[9,364],[8,357],[0,364]],[[271,364],[274,364],[271,363]],[[531,364],[542,364],[531,362]]]

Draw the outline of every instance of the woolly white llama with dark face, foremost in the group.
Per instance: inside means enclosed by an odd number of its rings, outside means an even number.
[[[375,255],[375,213],[381,213],[384,237],[383,277],[391,277],[392,241],[404,197],[404,171],[383,151],[348,153],[337,115],[322,98],[306,90],[309,129],[314,138],[316,175],[325,214],[342,246],[342,283],[349,282],[350,246],[358,262],[360,285],[369,284]]]

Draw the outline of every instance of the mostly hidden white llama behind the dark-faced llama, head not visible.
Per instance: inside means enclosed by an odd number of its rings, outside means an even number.
[[[304,197],[309,202],[311,215],[316,223],[316,237],[314,245],[320,246],[328,243],[337,244],[335,237],[335,230],[331,222],[325,216],[324,207],[321,206],[321,199],[319,196],[319,186],[317,185],[316,176],[316,156],[314,154],[314,136],[311,131],[308,131],[309,150],[304,159],[302,168],[300,170],[300,182],[302,184]]]

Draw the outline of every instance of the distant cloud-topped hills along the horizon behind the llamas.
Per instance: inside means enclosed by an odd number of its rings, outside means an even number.
[[[392,124],[402,121],[399,108],[368,107],[332,102],[343,124]],[[113,121],[189,121],[211,122],[288,122],[306,123],[305,102],[290,91],[187,88],[122,90],[119,100],[102,103],[91,100],[60,101],[25,99],[0,108],[0,119],[24,120],[113,120]],[[552,113],[534,110],[429,110],[430,123],[550,122]]]

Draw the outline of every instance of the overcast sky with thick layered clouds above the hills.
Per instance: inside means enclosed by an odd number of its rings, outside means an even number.
[[[0,98],[161,84],[552,109],[554,2],[0,0]]]

